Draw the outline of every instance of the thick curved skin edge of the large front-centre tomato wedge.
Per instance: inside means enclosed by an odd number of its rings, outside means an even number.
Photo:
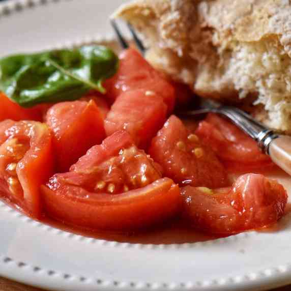
[[[57,192],[42,186],[47,213],[89,229],[130,231],[159,224],[180,211],[179,187],[163,178],[141,189],[110,195],[65,186]]]

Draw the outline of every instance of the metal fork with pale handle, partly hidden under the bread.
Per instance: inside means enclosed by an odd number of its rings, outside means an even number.
[[[119,25],[115,19],[110,20],[115,34],[117,35],[120,45],[126,49],[129,47],[127,39],[121,32]],[[145,53],[145,47],[138,35],[135,33],[134,28],[130,23],[126,23],[130,31],[132,39],[137,48],[142,54]],[[178,115],[184,115],[187,117],[194,117],[198,114],[204,114],[208,112],[214,112],[223,115],[228,118],[232,123],[237,125],[252,139],[254,139],[261,151],[269,155],[272,161],[280,168],[285,170],[291,175],[291,137],[281,135],[275,131],[268,129],[263,124],[255,121],[246,112],[232,106],[225,106],[216,101],[206,98],[199,98],[199,106],[195,110],[183,111]]]

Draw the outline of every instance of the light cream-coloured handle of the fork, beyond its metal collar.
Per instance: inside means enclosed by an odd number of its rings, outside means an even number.
[[[280,135],[271,141],[269,155],[272,161],[291,175],[291,137]]]

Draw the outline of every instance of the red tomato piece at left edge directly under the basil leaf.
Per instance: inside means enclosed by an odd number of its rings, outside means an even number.
[[[12,102],[6,95],[0,92],[0,121],[12,119],[41,121],[42,115],[37,108],[23,108]]]

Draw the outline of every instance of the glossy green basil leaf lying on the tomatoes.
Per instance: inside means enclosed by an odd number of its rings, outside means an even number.
[[[105,93],[102,81],[118,64],[118,56],[99,45],[7,56],[0,59],[0,91],[23,107],[76,100],[92,89]]]

